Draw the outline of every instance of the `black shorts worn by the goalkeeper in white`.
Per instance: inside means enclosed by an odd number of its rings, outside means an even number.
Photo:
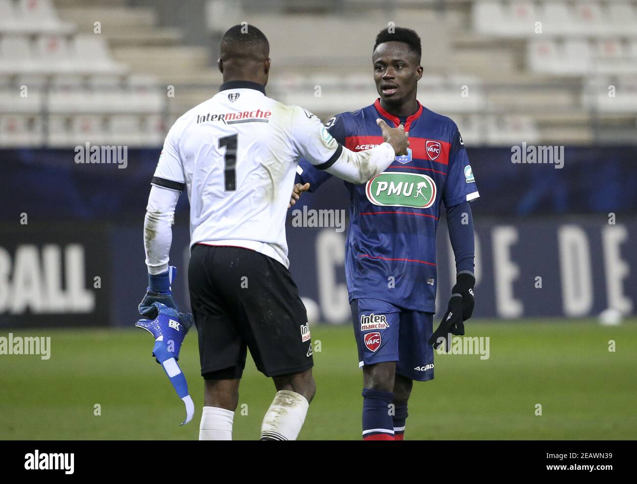
[[[246,248],[197,244],[188,285],[206,380],[241,378],[247,348],[266,376],[313,366],[305,306],[277,260]]]

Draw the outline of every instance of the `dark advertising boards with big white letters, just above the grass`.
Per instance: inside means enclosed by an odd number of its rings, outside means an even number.
[[[290,218],[293,217],[290,211]],[[637,218],[476,218],[476,318],[590,317],[637,308]],[[31,227],[34,224],[36,226]],[[28,227],[28,228],[27,228]],[[138,224],[86,222],[0,232],[0,327],[132,327],[147,285]],[[287,228],[290,271],[313,321],[349,319],[343,261],[346,232]],[[187,224],[173,226],[173,283],[189,307]],[[446,228],[438,231],[438,309],[446,306],[454,265]],[[94,287],[96,277],[101,287]],[[74,298],[77,298],[75,300]]]

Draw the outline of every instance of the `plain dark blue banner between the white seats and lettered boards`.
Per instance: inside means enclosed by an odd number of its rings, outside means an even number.
[[[78,146],[84,150],[84,146]],[[127,150],[117,164],[76,162],[73,149],[0,150],[3,174],[0,220],[27,212],[42,220],[131,220],[143,217],[150,179],[161,148]],[[636,213],[637,169],[633,147],[565,148],[556,164],[512,162],[512,148],[468,148],[480,199],[476,215],[497,217],[569,213]],[[304,195],[314,208],[347,208],[340,180]],[[177,215],[188,214],[185,197]]]

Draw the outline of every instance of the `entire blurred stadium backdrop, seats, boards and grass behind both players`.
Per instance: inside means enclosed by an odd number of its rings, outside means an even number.
[[[419,100],[461,130],[481,194],[468,334],[489,336],[490,358],[437,357],[406,438],[636,438],[637,1],[0,0],[0,337],[52,338],[48,360],[0,355],[0,439],[197,437],[131,329],[142,226],[164,136],[217,92],[220,38],[243,21],[269,38],[268,95],[324,121],[376,99],[376,33],[413,28]],[[76,162],[87,143],[125,147],[125,167]],[[513,163],[522,143],[563,146],[563,167]],[[171,251],[182,309],[185,198]],[[347,211],[347,192],[331,180],[302,202]],[[319,345],[301,438],[357,439],[346,232],[295,227],[292,211],[287,229]],[[443,224],[438,242],[442,309]],[[181,362],[200,406],[194,330]],[[235,436],[251,439],[273,385],[252,363],[245,380]]]

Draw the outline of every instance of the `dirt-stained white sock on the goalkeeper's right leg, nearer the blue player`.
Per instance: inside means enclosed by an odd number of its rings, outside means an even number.
[[[261,424],[261,440],[296,440],[310,404],[290,390],[276,393]]]

